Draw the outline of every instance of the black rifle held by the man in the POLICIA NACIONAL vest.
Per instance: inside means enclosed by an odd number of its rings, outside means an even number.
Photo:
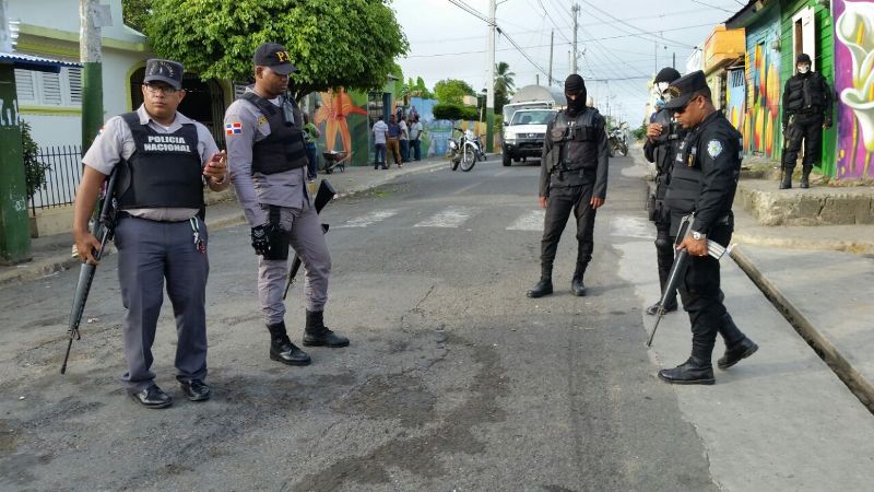
[[[118,211],[118,199],[116,197],[116,179],[118,178],[118,167],[116,166],[109,174],[109,180],[106,185],[104,192],[103,203],[101,204],[101,214],[97,220],[92,224],[92,234],[101,238],[101,248],[93,251],[94,258],[99,261],[103,257],[103,251],[106,249],[106,243],[113,241],[113,235],[116,227],[116,212]],[[70,311],[70,327],[67,332],[70,335],[70,340],[67,342],[67,353],[63,355],[63,365],[61,365],[61,374],[67,372],[67,361],[70,359],[70,349],[73,347],[73,338],[80,340],[82,336],[79,333],[79,324],[82,323],[82,314],[85,311],[85,301],[88,298],[91,292],[91,282],[94,280],[94,273],[97,270],[95,263],[87,261],[82,263],[79,270],[79,281],[75,284],[75,294],[73,295],[73,308]]]

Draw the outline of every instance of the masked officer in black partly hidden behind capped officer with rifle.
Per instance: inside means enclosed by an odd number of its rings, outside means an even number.
[[[671,67],[665,67],[656,75],[654,90],[664,99],[664,93],[671,82],[680,79],[680,72]],[[671,179],[671,167],[676,159],[680,142],[686,136],[686,130],[674,121],[670,109],[662,108],[653,115],[652,121],[647,127],[647,141],[643,143],[643,155],[647,161],[656,164],[656,191],[650,196],[647,208],[649,220],[656,223],[656,258],[659,265],[659,285],[664,294],[664,283],[674,263],[674,239],[670,234],[671,213],[664,204],[664,194]],[[647,314],[658,313],[661,300],[647,307]],[[665,302],[666,312],[676,311],[676,293]]]

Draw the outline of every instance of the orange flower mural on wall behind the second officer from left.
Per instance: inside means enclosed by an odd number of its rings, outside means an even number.
[[[321,139],[317,143],[319,152],[344,151],[346,164],[368,164],[367,96],[351,94],[340,87],[318,93],[317,104],[320,106],[312,121],[321,131]],[[338,137],[340,145],[336,144]]]

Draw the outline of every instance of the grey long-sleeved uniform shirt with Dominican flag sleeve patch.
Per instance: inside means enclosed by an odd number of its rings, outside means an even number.
[[[253,92],[251,87],[246,92]],[[272,101],[279,107],[279,98]],[[300,125],[303,121],[295,121]],[[258,106],[237,99],[225,112],[225,141],[231,166],[231,180],[237,191],[246,220],[251,226],[268,223],[262,204],[304,209],[310,207],[306,192],[307,168],[284,171],[271,175],[252,174],[252,145],[270,134],[270,125]]]

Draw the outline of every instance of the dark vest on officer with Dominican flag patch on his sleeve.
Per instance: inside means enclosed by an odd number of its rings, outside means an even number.
[[[244,93],[241,98],[255,104],[270,126],[270,134],[252,145],[252,174],[275,174],[306,166],[304,121],[294,102],[283,97],[283,107],[277,107],[253,92]]]

